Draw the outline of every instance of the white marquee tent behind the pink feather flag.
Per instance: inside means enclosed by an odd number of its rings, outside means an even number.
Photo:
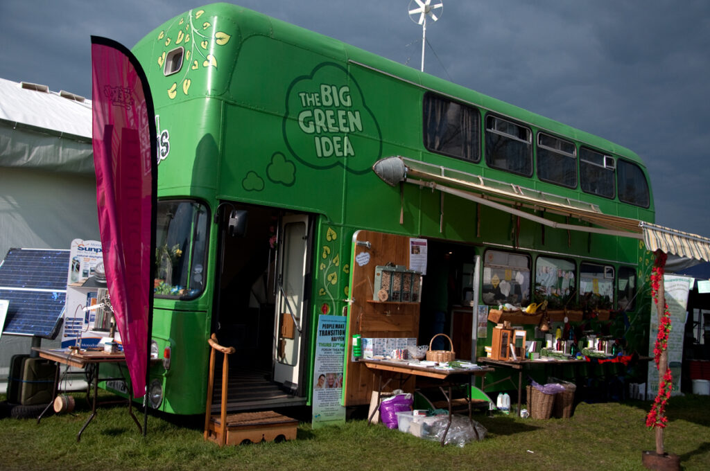
[[[99,240],[91,101],[0,79],[0,260],[10,248]],[[0,379],[30,339],[0,340]]]

